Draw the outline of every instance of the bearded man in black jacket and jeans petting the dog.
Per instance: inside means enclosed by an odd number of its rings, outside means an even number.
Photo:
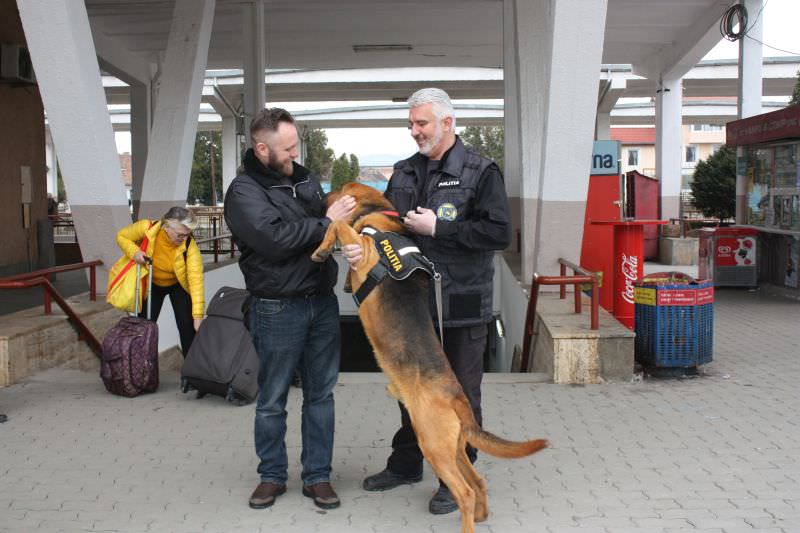
[[[239,268],[252,295],[250,332],[258,352],[255,447],[261,482],[250,507],[264,509],[286,491],[286,397],[297,370],[303,386],[303,494],[338,507],[330,484],[333,387],[339,372],[336,263],[311,253],[328,225],[355,207],[350,196],[325,209],[319,182],[294,162],[298,135],[284,109],[262,109],[250,124],[253,148],[225,195],[225,221],[241,251]]]

